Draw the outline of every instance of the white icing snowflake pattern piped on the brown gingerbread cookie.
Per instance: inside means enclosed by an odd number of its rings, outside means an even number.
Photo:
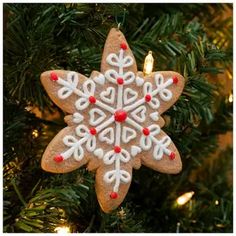
[[[85,120],[82,112],[73,114],[74,123],[79,124],[84,121],[87,125],[80,124],[75,128],[76,137],[66,135],[63,138],[63,143],[67,149],[61,153],[62,157],[68,159],[72,156],[75,160],[81,161],[84,157],[84,148],[86,148],[89,153],[93,153],[94,156],[102,159],[105,165],[110,166],[110,170],[104,174],[103,179],[108,184],[114,183],[113,191],[115,192],[119,191],[121,183],[128,183],[131,180],[131,175],[125,170],[127,168],[126,163],[129,163],[131,156],[135,157],[142,151],[151,148],[154,160],[160,160],[164,154],[170,155],[171,153],[171,150],[168,149],[171,139],[168,136],[158,139],[160,127],[156,124],[149,125],[147,128],[150,133],[145,136],[143,134],[144,127],[141,123],[146,121],[146,106],[149,106],[148,112],[151,110],[148,116],[153,121],[159,119],[157,110],[160,107],[160,102],[167,102],[172,99],[172,91],[168,87],[173,84],[173,79],[164,79],[161,73],[155,73],[154,85],[145,82],[143,78],[135,75],[129,69],[125,69],[134,64],[133,57],[126,54],[127,52],[122,48],[117,54],[110,53],[106,61],[113,68],[106,70],[104,75],[99,73],[93,79],[85,80],[79,88],[77,88],[79,77],[75,72],[69,72],[65,80],[59,77],[56,81],[61,85],[57,91],[58,97],[66,99],[74,93],[78,97],[75,108],[78,111],[88,108],[84,112],[89,115],[89,119]],[[124,84],[118,84],[117,78],[122,78]],[[104,88],[101,92],[100,90],[96,91],[96,86],[104,85],[105,82],[112,83],[113,87]],[[131,85],[131,83],[142,88],[143,93],[140,94],[139,99],[139,91],[135,90],[136,86]],[[127,88],[127,85],[130,86]],[[145,100],[147,94],[151,96],[149,102]],[[96,98],[96,102],[91,104],[91,108],[90,96]],[[126,120],[121,123],[114,120],[114,113],[119,109],[128,113]],[[108,116],[107,120],[105,120],[106,116]],[[129,124],[130,127],[127,127],[126,124]],[[90,133],[91,128],[96,130],[94,135]],[[141,134],[138,144],[132,145],[128,152],[124,149],[126,147],[124,144],[136,139],[138,133]],[[103,148],[99,147],[102,142],[109,145],[106,153]],[[114,146],[120,147],[121,151],[115,153]]]

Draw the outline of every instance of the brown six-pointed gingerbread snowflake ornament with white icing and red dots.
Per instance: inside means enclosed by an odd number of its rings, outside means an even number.
[[[184,87],[170,71],[144,76],[137,72],[124,35],[111,29],[101,73],[90,78],[64,70],[47,71],[41,81],[50,98],[65,112],[68,126],[48,145],[42,168],[66,173],[87,164],[96,170],[96,192],[104,212],[118,207],[127,194],[132,169],[141,164],[162,173],[182,169],[175,145],[162,130],[161,114]]]

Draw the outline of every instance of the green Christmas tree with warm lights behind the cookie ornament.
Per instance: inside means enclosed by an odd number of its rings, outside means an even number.
[[[232,232],[232,4],[4,4],[4,232]],[[41,82],[47,70],[99,71],[120,27],[143,70],[185,77],[163,130],[183,162],[177,175],[142,166],[119,208],[104,213],[94,173],[41,169],[66,126]]]

